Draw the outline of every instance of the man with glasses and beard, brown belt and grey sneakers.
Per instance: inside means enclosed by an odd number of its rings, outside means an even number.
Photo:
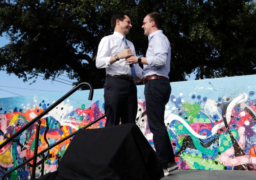
[[[146,15],[142,28],[148,36],[146,57],[132,56],[126,59],[130,64],[143,64],[143,77],[146,100],[146,112],[149,129],[153,134],[155,150],[162,162],[165,176],[169,171],[178,168],[174,160],[174,151],[165,126],[165,105],[171,95],[169,71],[171,65],[171,45],[168,38],[160,30],[163,20],[159,13]]]

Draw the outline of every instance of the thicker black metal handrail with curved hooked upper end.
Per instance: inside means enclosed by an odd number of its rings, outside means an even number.
[[[6,141],[4,141],[2,144],[0,144],[0,149],[5,147],[5,145],[7,145],[9,142],[11,142],[13,139],[15,139],[18,135],[20,135],[22,132],[24,132],[30,126],[32,126],[35,122],[38,122],[37,123],[37,135],[36,135],[36,139],[35,139],[36,142],[37,142],[37,143],[35,143],[35,150],[36,151],[34,151],[34,157],[33,157],[34,159],[36,159],[37,148],[38,148],[38,138],[39,138],[39,127],[40,127],[40,125],[38,125],[38,124],[41,124],[40,118],[42,118],[44,115],[49,113],[49,111],[51,111],[53,108],[55,108],[57,105],[59,105],[62,101],[64,101],[66,98],[68,98],[70,95],[72,95],[76,90],[78,90],[79,88],[81,88],[83,86],[89,87],[90,93],[89,93],[88,100],[92,100],[93,99],[93,87],[91,86],[91,84],[87,83],[87,82],[83,82],[83,83],[78,84],[76,87],[74,87],[68,93],[66,93],[66,95],[62,96],[55,103],[50,105],[50,107],[48,107],[46,110],[44,110],[42,113],[40,113],[37,117],[35,117],[33,120],[31,120],[29,123],[27,123],[24,127],[22,127],[20,130],[18,130],[14,135],[12,135],[8,139],[6,139]],[[35,166],[36,166],[36,160],[34,160],[34,162],[33,162],[32,178],[35,178]]]

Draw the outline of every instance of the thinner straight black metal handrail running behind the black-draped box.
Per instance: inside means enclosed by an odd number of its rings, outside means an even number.
[[[88,123],[87,125],[85,125],[84,127],[81,127],[80,129],[86,129],[87,127],[90,127],[91,125],[93,125],[94,123],[97,123],[99,120],[101,120],[102,118],[106,117],[105,114],[103,114],[101,117],[95,119],[94,121],[91,121],[90,123]],[[78,129],[78,130],[80,130]],[[66,136],[65,138],[62,138],[61,140],[59,140],[58,142],[55,142],[54,144],[50,145],[49,147],[47,147],[46,149],[44,149],[43,151],[41,151],[40,153],[37,154],[36,157],[43,155],[44,157],[44,153],[49,151],[51,148],[55,147],[56,145],[59,145],[61,142],[66,141],[67,139],[71,138],[72,136],[74,136],[78,130],[76,130],[75,132],[71,133],[70,135]],[[2,180],[5,179],[5,177],[9,174],[11,174],[12,172],[16,171],[17,169],[21,168],[22,166],[26,165],[28,162],[30,162],[31,160],[35,160],[35,157],[30,157],[29,159],[27,159],[26,161],[24,161],[23,163],[21,163],[20,165],[16,166],[15,168],[13,168],[12,170],[6,172],[6,174],[3,175]],[[42,158],[42,166],[43,166],[43,160],[44,158]],[[41,168],[41,176],[43,176],[43,170],[44,168]]]

